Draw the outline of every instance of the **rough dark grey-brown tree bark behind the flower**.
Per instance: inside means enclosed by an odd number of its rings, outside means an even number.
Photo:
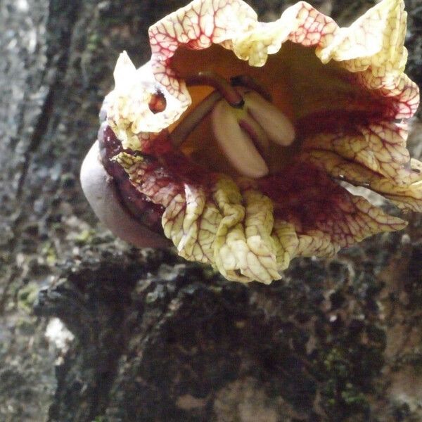
[[[406,3],[421,85],[422,2]],[[421,421],[418,215],[242,286],[130,248],[89,209],[79,166],[117,55],[148,60],[148,26],[183,4],[0,2],[0,421]],[[371,6],[314,4],[343,24]]]

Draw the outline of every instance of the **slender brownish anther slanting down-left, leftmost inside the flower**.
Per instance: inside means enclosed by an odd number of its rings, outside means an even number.
[[[203,118],[214,108],[215,103],[222,99],[219,91],[213,91],[209,96],[205,97],[192,112],[182,120],[174,131],[170,134],[170,139],[174,146],[180,146],[186,138],[191,134]]]

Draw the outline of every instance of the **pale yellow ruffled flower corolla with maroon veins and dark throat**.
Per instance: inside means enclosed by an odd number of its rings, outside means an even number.
[[[122,207],[181,257],[243,282],[403,229],[343,182],[422,210],[405,30],[400,0],[343,28],[302,1],[272,23],[241,0],[167,15],[149,30],[146,65],[120,55],[101,113]]]

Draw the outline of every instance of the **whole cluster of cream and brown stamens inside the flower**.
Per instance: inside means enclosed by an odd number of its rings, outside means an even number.
[[[188,85],[193,84],[210,85],[215,91],[174,129],[173,145],[180,146],[210,114],[212,134],[234,170],[252,179],[267,176],[270,143],[289,146],[295,140],[295,127],[288,117],[251,79],[236,77],[230,83],[207,72],[188,80]]]

